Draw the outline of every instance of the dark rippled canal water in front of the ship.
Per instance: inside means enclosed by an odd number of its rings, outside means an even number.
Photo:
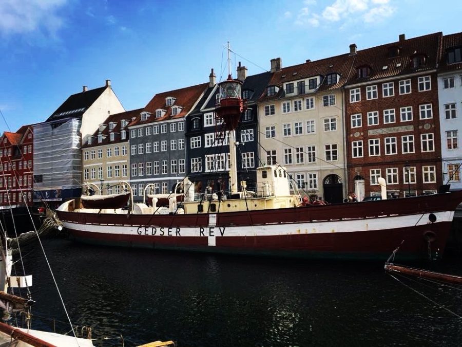
[[[114,338],[96,346],[122,345],[120,335],[125,346],[462,345],[460,288],[398,282],[383,263],[43,244],[72,323]],[[33,275],[33,328],[50,330],[41,319],[49,317],[69,331],[42,251],[23,257]],[[462,274],[460,260],[437,269]]]

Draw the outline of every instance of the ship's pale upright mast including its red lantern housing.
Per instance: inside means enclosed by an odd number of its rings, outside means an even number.
[[[230,193],[238,192],[237,161],[236,161],[236,127],[239,124],[241,114],[244,112],[244,102],[241,98],[241,85],[239,80],[231,77],[231,49],[228,41],[228,78],[220,82],[220,98],[215,109],[216,115],[223,119],[225,129],[229,133],[229,181]]]

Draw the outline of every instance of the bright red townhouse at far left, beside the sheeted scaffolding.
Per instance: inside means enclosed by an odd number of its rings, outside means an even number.
[[[32,205],[33,131],[23,125],[0,138],[0,207]]]

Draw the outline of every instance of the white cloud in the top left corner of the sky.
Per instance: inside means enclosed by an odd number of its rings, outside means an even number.
[[[0,33],[28,33],[44,30],[54,36],[63,25],[56,13],[67,0],[1,0]]]

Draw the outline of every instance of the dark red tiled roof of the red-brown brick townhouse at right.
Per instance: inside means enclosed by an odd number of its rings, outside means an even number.
[[[352,73],[346,84],[374,81],[387,77],[413,74],[437,67],[437,55],[442,33],[436,32],[417,38],[388,43],[381,46],[358,50],[355,54]],[[399,54],[390,57],[390,51],[398,48]],[[423,66],[414,68],[413,58],[419,54],[426,58]],[[358,78],[358,67],[370,67],[367,78]]]

